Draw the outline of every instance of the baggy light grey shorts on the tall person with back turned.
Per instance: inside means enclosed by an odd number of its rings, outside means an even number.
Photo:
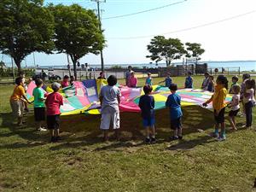
[[[102,113],[101,130],[108,130],[110,125],[113,126],[113,130],[120,128],[119,112]]]

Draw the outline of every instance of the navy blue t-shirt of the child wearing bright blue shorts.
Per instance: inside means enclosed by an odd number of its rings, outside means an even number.
[[[142,110],[143,119],[154,118],[154,96],[141,96],[139,101],[139,107]]]

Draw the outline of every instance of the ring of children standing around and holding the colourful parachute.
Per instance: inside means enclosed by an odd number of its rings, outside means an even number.
[[[132,76],[131,76],[132,77]],[[129,78],[131,78],[129,77]],[[104,74],[101,74],[101,79],[105,78]],[[50,131],[50,141],[56,142],[60,139],[59,136],[59,124],[60,124],[60,107],[63,105],[63,98],[58,90],[61,87],[66,87],[67,85],[73,84],[73,79],[68,83],[68,77],[64,77],[61,84],[53,83],[51,88],[54,90],[53,93],[47,94],[42,89],[43,80],[36,79],[35,84],[37,87],[33,90],[32,95],[34,96],[34,118],[36,121],[36,126],[39,131],[46,131],[43,126],[43,121],[45,120],[45,108],[46,108],[46,122],[47,127]],[[212,97],[203,103],[203,106],[207,106],[212,102],[212,108],[214,111],[215,119],[215,131],[213,133],[214,137],[218,137],[219,141],[225,140],[225,123],[224,123],[224,113],[225,108],[230,108],[229,120],[230,125],[234,130],[236,127],[236,115],[240,110],[240,103],[243,106],[243,112],[246,115],[246,127],[250,128],[252,126],[252,108],[255,105],[255,80],[250,79],[249,74],[244,74],[242,77],[241,86],[237,84],[238,78],[234,76],[232,78],[232,85],[230,87],[230,93],[233,94],[232,100],[229,103],[225,102],[225,98],[228,94],[228,79],[224,75],[218,75],[216,83],[213,78],[206,73],[205,79],[202,83],[202,89],[208,90],[209,86],[212,86],[214,93]],[[177,84],[172,83],[170,73],[167,73],[166,79],[162,82],[166,83],[171,91],[171,94],[166,100],[166,108],[170,109],[170,123],[173,130],[172,140],[182,139],[182,109],[181,109],[181,97],[176,93]],[[160,82],[161,83],[161,82]],[[24,89],[24,79],[19,77],[15,79],[15,90],[10,97],[10,105],[13,110],[15,117],[18,118],[18,125],[23,123],[23,102],[31,103],[26,98],[26,91]],[[119,138],[119,103],[121,93],[117,86],[117,79],[115,76],[110,75],[108,77],[108,85],[103,86],[100,94],[99,100],[102,106],[102,119],[100,129],[104,132],[104,140],[108,141],[108,130],[110,125],[113,126],[117,139]],[[210,85],[212,84],[212,85]],[[191,73],[185,80],[186,88],[193,88],[193,78]],[[207,87],[207,88],[206,88]],[[151,74],[148,73],[148,79],[143,86],[144,95],[140,97],[139,108],[142,111],[143,126],[145,127],[145,142],[155,143],[155,118],[154,118],[154,96],[151,96],[152,92],[152,78]],[[220,132],[219,132],[220,127]]]

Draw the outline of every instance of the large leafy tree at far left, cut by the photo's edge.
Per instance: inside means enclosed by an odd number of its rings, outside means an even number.
[[[43,0],[1,0],[0,13],[0,51],[14,58],[19,72],[26,55],[54,48],[54,18]]]

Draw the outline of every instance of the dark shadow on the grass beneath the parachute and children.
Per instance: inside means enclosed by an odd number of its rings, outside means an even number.
[[[13,143],[2,145],[1,148],[27,148],[49,143],[49,133],[35,131],[33,117],[27,117],[27,127],[16,129],[12,124],[11,113],[1,113],[3,119],[2,127],[9,128],[9,131],[1,132],[0,137],[11,137],[18,135],[26,139],[26,143]],[[117,148],[131,148],[143,145],[143,125],[140,113],[120,113],[121,138],[120,142],[112,142],[113,135],[110,135],[110,143],[104,143],[95,150],[114,150]],[[169,110],[161,109],[156,111],[156,132],[157,143],[165,143],[171,136]],[[99,130],[100,115],[69,115],[61,116],[61,138],[49,149],[58,150],[61,148],[79,148],[102,143],[102,132]],[[197,132],[198,129],[207,130],[214,124],[212,112],[199,106],[183,107],[183,136]],[[209,138],[209,137],[208,137]],[[189,142],[178,143],[173,148],[194,148],[197,144],[207,143],[207,137],[199,137]],[[180,147],[178,147],[180,146]],[[189,147],[190,146],[190,147]]]

